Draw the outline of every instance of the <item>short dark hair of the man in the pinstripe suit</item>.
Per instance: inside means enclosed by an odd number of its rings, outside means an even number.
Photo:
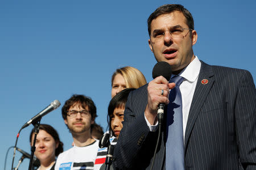
[[[180,11],[185,18],[187,19],[187,25],[188,28],[194,29],[194,20],[191,15],[191,13],[184,8],[184,6],[179,5],[179,4],[166,4],[158,7],[147,19],[147,30],[148,30],[148,35],[151,36],[151,22],[153,19],[156,19],[159,15],[163,14],[170,14],[171,12],[174,11]]]

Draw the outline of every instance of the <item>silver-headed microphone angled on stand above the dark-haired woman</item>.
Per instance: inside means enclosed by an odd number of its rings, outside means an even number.
[[[41,111],[40,113],[36,114],[36,116],[32,117],[31,120],[29,120],[28,122],[26,122],[26,124],[24,124],[22,126],[23,128],[26,128],[28,125],[32,124],[34,121],[38,120],[38,118],[43,117],[44,115],[46,115],[47,113],[53,111],[54,109],[57,109],[60,106],[60,101],[59,100],[54,100],[52,101],[52,103],[50,105],[48,105],[48,107],[46,107],[45,109],[43,109],[43,111]]]

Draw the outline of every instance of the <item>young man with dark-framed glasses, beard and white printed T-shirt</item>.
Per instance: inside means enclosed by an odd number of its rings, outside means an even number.
[[[96,106],[90,97],[73,95],[61,112],[75,145],[58,156],[55,169],[93,169],[98,150],[98,140],[91,134]]]

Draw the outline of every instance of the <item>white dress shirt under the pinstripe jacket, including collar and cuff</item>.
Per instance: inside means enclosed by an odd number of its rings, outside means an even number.
[[[188,122],[188,113],[196,89],[196,83],[199,76],[200,67],[201,62],[199,61],[197,56],[195,56],[195,59],[193,59],[193,61],[189,63],[189,65],[185,67],[179,74],[184,78],[183,82],[180,84],[183,112],[183,138],[185,137],[185,130]],[[175,75],[172,75],[171,77],[173,76]],[[150,122],[148,122],[146,116],[145,119],[150,130],[155,131],[158,127],[158,122],[156,122],[156,125],[150,125]]]

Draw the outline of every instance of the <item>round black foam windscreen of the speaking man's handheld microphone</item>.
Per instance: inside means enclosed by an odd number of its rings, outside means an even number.
[[[155,79],[156,77],[162,75],[167,81],[170,80],[172,75],[172,68],[168,62],[160,61],[155,64],[152,70],[152,77]]]

